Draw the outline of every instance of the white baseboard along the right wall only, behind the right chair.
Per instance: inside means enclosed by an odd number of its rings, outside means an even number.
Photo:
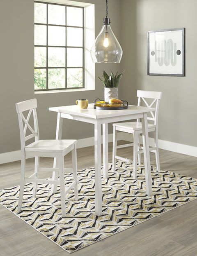
[[[125,141],[133,142],[133,136],[125,132],[121,132],[121,139]],[[141,142],[142,142],[142,138],[141,138]],[[151,147],[154,146],[153,138],[149,138],[149,144]],[[160,139],[158,140],[158,146],[160,149],[165,149],[165,150],[173,151],[176,153],[197,157],[197,147],[194,147],[194,146],[175,143],[172,141],[164,141]]]

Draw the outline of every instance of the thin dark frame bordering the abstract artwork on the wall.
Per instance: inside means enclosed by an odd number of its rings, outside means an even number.
[[[150,72],[150,33],[159,33],[159,32],[168,32],[168,31],[182,31],[182,73],[174,74],[174,73],[151,73]],[[170,29],[162,29],[156,31],[148,31],[147,32],[147,75],[160,75],[160,76],[185,76],[185,28],[170,28]],[[181,52],[177,50],[177,52]],[[154,51],[153,51],[154,52]],[[176,52],[176,53],[177,53]],[[152,55],[152,54],[151,54]],[[179,55],[177,53],[177,55]]]

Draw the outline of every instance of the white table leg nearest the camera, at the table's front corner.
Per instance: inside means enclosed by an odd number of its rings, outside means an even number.
[[[95,161],[95,214],[102,215],[102,184],[101,184],[101,121],[94,124],[94,161]]]

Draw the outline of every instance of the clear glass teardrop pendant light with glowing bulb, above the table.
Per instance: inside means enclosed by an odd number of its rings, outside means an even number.
[[[108,0],[106,18],[103,19],[103,27],[92,45],[91,56],[96,63],[119,63],[122,58],[122,48],[110,27]]]

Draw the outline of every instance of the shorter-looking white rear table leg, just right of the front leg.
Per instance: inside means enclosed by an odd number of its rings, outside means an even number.
[[[108,124],[103,124],[103,177],[108,178]]]

